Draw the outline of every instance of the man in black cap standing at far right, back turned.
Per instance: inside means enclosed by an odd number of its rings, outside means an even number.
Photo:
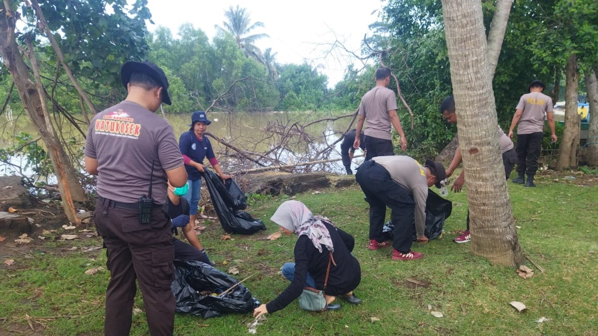
[[[551,139],[557,141],[554,132],[553,99],[542,93],[544,83],[537,79],[529,85],[529,93],[519,99],[515,107],[515,115],[509,128],[509,138],[513,137],[513,130],[517,126],[517,174],[514,183],[525,184],[526,187],[535,187],[533,178],[538,169],[538,158],[542,147],[542,130],[544,119],[548,120]],[[527,181],[525,179],[527,174]]]

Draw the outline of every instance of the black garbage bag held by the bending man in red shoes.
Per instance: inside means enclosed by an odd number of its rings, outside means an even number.
[[[442,198],[437,193],[428,189],[428,199],[426,199],[426,228],[424,234],[428,239],[436,239],[443,233],[444,221],[449,218],[453,211],[453,202]],[[413,221],[415,225],[415,221]],[[392,241],[392,230],[394,225],[388,222],[382,228],[385,239]],[[413,241],[417,241],[417,233],[413,233]]]

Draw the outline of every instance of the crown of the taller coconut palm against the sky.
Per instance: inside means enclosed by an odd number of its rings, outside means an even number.
[[[246,8],[239,7],[239,5],[237,5],[237,8],[229,7],[228,10],[224,11],[224,16],[227,18],[227,21],[222,21],[224,28],[215,24],[216,32],[229,33],[233,36],[239,48],[245,51],[246,56],[252,56],[263,63],[261,50],[255,47],[254,43],[258,39],[269,38],[270,36],[264,33],[249,34],[257,27],[264,27],[264,23],[261,21],[251,23],[248,11]]]

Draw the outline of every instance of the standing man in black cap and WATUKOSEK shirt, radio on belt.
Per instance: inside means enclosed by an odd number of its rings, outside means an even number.
[[[96,230],[106,246],[110,281],[104,334],[129,335],[137,279],[152,336],[172,335],[175,298],[167,180],[187,182],[172,127],[155,115],[170,104],[168,80],[153,63],[128,61],[120,72],[127,98],[91,121],[85,166],[97,175]]]

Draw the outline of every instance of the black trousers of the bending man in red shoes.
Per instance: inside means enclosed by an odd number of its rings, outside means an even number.
[[[415,202],[413,196],[400,184],[390,178],[382,165],[369,160],[357,169],[355,178],[370,204],[370,239],[383,242],[382,229],[386,217],[386,206],[390,208],[393,230],[392,247],[401,253],[411,250],[415,225]]]

